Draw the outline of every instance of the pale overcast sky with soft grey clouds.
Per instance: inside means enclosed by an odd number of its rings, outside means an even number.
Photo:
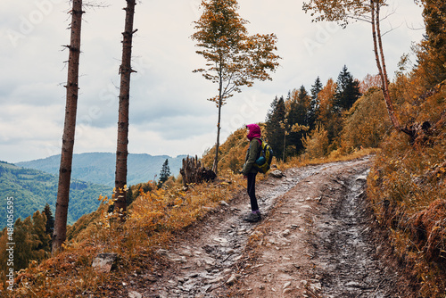
[[[82,24],[78,126],[75,153],[115,152],[118,74],[124,0],[104,0],[106,8],[86,8]],[[422,9],[412,1],[392,3],[383,23],[384,51],[393,77],[401,54],[422,34]],[[130,88],[129,153],[198,154],[215,144],[217,108],[206,101],[217,86],[192,70],[194,21],[199,0],[142,0],[136,5]],[[319,76],[337,79],[345,64],[356,79],[376,74],[371,29],[352,23],[311,23],[296,0],[239,0],[250,34],[275,33],[280,67],[272,81],[255,82],[229,99],[222,110],[222,141],[244,124],[265,120],[275,96]],[[0,160],[16,162],[61,152],[70,43],[67,0],[1,0]],[[392,79],[392,78],[391,78]]]

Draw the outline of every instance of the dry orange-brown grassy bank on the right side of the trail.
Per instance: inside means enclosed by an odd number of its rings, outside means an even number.
[[[446,296],[445,93],[417,103],[416,123],[429,120],[432,128],[413,144],[396,131],[386,137],[368,177],[377,219],[420,295],[430,298]]]

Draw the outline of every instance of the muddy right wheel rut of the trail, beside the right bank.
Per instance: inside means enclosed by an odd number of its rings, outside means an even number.
[[[365,193],[368,170],[335,177],[335,199],[315,222],[310,240],[326,298],[400,297],[398,273],[382,261]],[[374,240],[375,239],[375,240]]]

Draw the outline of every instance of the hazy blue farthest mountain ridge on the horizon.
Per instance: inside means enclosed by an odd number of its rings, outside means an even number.
[[[73,155],[71,178],[114,186],[116,157],[115,153],[80,153]],[[159,175],[162,163],[169,161],[170,174],[178,176],[182,160],[186,155],[170,157],[168,155],[128,154],[128,186],[153,180]],[[36,161],[17,162],[23,168],[43,170],[59,175],[61,155],[54,155]]]

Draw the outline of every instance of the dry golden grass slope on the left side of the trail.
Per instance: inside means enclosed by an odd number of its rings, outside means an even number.
[[[16,288],[11,297],[83,297],[89,294],[106,296],[113,287],[134,270],[151,270],[155,251],[169,245],[182,229],[202,217],[220,201],[230,201],[244,184],[240,175],[223,173],[218,183],[144,192],[132,203],[128,220],[119,224],[116,215],[107,213],[103,204],[88,227],[72,239],[57,256],[33,262],[15,278]],[[117,252],[118,270],[98,274],[91,264],[97,253]]]

